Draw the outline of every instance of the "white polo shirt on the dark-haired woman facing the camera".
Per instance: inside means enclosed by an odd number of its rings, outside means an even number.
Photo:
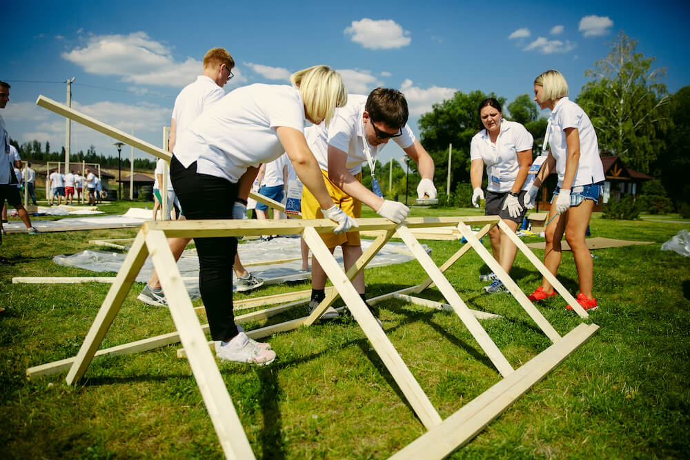
[[[531,150],[534,139],[532,134],[517,121],[501,120],[501,130],[496,143],[486,130],[477,132],[470,143],[470,160],[482,159],[486,165],[486,177],[489,179],[489,192],[510,192],[520,170],[517,152]],[[523,186],[522,190],[526,187]]]

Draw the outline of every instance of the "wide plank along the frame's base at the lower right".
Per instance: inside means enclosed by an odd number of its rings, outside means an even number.
[[[513,372],[511,376],[496,383],[467,403],[440,426],[429,430],[396,452],[391,459],[442,459],[464,446],[522,394],[580,347],[598,328],[599,326],[595,324],[580,324],[558,343],[554,343]]]

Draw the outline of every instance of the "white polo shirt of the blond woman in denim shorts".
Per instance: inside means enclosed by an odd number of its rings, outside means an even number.
[[[565,163],[568,157],[568,149],[565,137],[566,128],[578,128],[580,134],[580,161],[575,172],[573,187],[586,186],[589,183],[597,183],[604,180],[604,166],[599,157],[599,144],[597,133],[592,122],[578,104],[563,97],[553,108],[549,116],[549,148],[551,155],[556,160],[556,172],[558,172],[558,186],[562,186],[565,176]]]

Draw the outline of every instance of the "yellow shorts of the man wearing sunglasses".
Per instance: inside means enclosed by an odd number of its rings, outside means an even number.
[[[362,217],[362,202],[354,199],[350,195],[346,194],[338,186],[335,185],[328,179],[328,172],[321,170],[321,174],[324,176],[324,182],[326,182],[326,189],[328,194],[331,195],[335,204],[345,212],[350,217],[355,217],[358,219]],[[355,179],[362,182],[362,172],[355,174]],[[306,188],[302,188],[302,219],[323,219],[324,213],[321,211],[321,206],[316,200],[313,194]],[[347,232],[347,233],[319,233],[321,239],[326,243],[326,247],[331,249],[335,246],[362,246],[359,242],[359,232]]]

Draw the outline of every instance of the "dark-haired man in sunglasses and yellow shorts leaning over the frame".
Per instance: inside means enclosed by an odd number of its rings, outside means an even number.
[[[417,187],[420,198],[435,198],[433,185],[434,164],[420,141],[407,125],[407,101],[402,92],[376,88],[368,97],[348,94],[346,106],[335,111],[328,126],[317,126],[318,135],[311,141],[311,148],[321,166],[326,187],[333,201],[351,217],[360,217],[362,203],[375,210],[381,217],[400,223],[406,219],[410,209],[397,201],[386,200],[375,178],[375,160],[380,150],[393,139],[404,152],[417,163],[422,175]],[[362,164],[369,165],[372,189],[362,185]],[[317,201],[306,190],[302,194],[302,217],[322,219],[323,214]],[[362,255],[359,232],[344,234],[322,233],[326,246],[333,252],[335,246],[342,246],[345,270],[354,265]],[[312,294],[309,304],[316,308],[325,298],[326,273],[318,261],[312,260]],[[364,294],[364,272],[353,279],[357,292]],[[377,312],[373,311],[375,317]],[[338,314],[328,308],[322,318],[335,318]]]

